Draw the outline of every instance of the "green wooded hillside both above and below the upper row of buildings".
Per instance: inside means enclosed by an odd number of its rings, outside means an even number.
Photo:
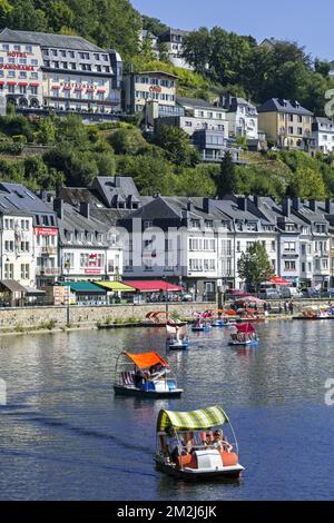
[[[0,0],[0,28],[79,34],[102,48],[115,48],[125,68],[159,69],[178,76],[178,93],[215,100],[222,93],[261,103],[269,97],[298,99],[323,115],[326,90],[334,88],[330,65],[313,59],[296,43],[259,47],[252,37],[222,28],[202,28],[185,41],[185,57],[195,71],[175,68],[164,47],[156,60],[138,31],[166,29],[141,17],[128,0]],[[43,146],[43,147],[41,147]],[[244,166],[229,176],[236,193],[334,197],[334,159],[299,151],[244,151]],[[30,119],[11,111],[0,117],[0,176],[32,189],[59,184],[89,185],[97,175],[132,176],[140,191],[217,196],[224,166],[199,164],[188,136],[163,128],[154,139],[127,121],[85,126],[72,115]]]

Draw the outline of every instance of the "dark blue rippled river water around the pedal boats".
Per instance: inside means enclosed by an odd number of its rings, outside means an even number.
[[[333,322],[271,322],[261,344],[236,351],[228,329],[194,333],[169,362],[181,398],[114,397],[122,349],[165,353],[161,329],[8,336],[0,339],[1,500],[330,500],[334,496]],[[196,335],[195,335],[196,334]],[[154,468],[160,408],[220,404],[236,431],[236,483],[187,484]]]

